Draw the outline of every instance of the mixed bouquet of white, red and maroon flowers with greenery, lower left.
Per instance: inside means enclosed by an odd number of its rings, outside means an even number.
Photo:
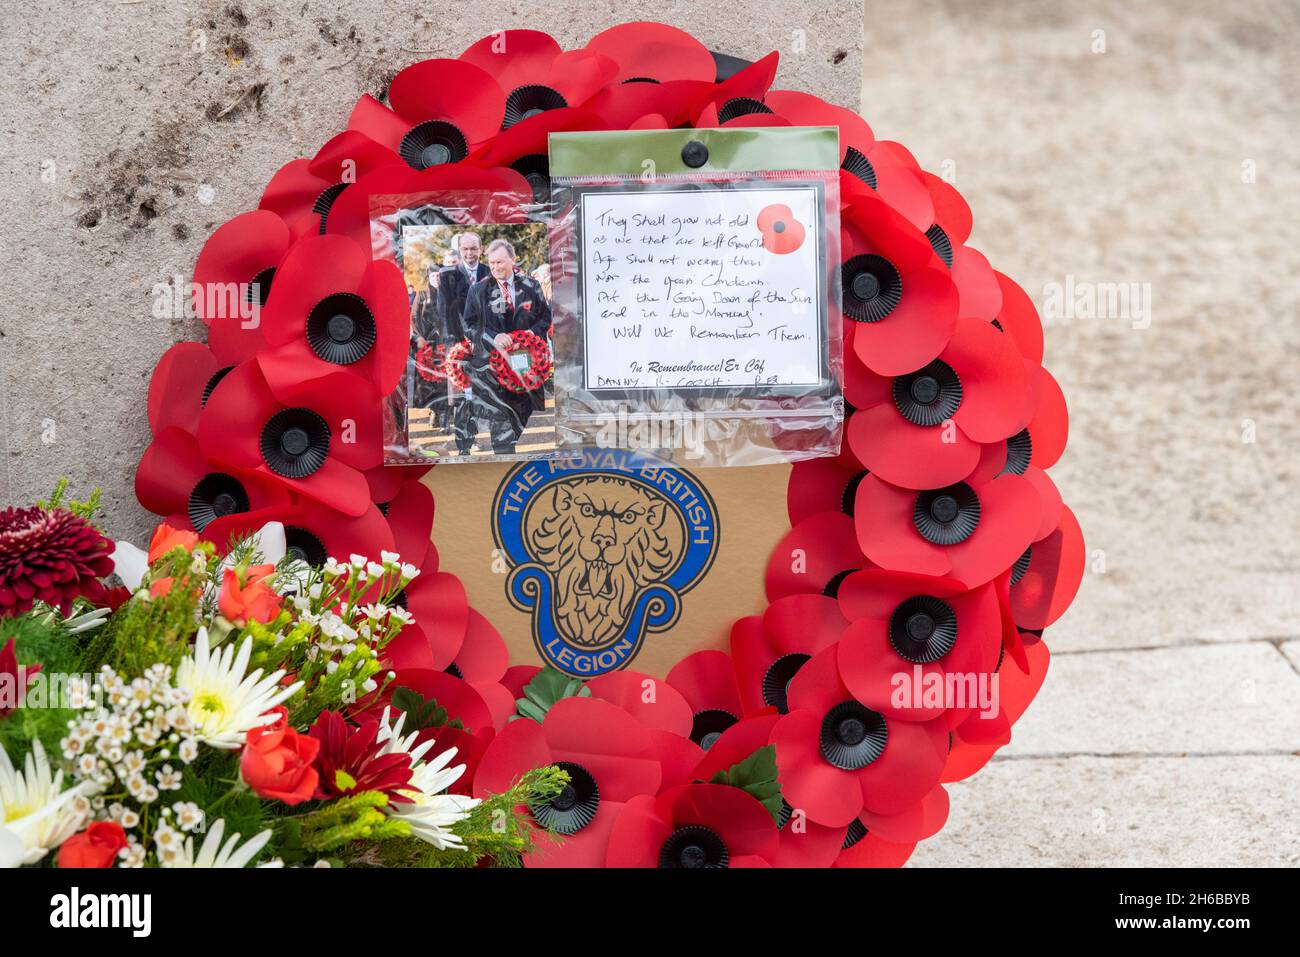
[[[144,551],[64,492],[0,512],[0,867],[511,865],[545,836],[520,809],[566,772],[471,797],[463,726],[389,666],[415,566],[311,566],[280,523]]]

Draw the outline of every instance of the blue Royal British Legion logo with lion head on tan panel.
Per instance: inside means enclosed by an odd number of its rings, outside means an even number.
[[[493,534],[542,659],[577,677],[625,667],[670,629],[718,550],[718,510],[689,472],[588,449],[502,480]]]

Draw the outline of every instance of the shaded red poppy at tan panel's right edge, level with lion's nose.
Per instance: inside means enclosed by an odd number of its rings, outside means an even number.
[[[767,599],[792,594],[835,596],[845,575],[867,563],[853,519],[815,512],[786,532],[767,559]]]

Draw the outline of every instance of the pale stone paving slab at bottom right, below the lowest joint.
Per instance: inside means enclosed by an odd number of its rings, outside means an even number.
[[[915,867],[1295,867],[1300,761],[994,761],[952,787]]]

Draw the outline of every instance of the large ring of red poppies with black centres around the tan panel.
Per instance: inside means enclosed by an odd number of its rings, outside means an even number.
[[[968,244],[950,183],[854,112],[772,88],[776,65],[628,23],[580,49],[510,30],[408,66],[387,103],[361,96],[347,129],[213,233],[195,267],[208,341],[170,348],[150,386],[136,492],[151,511],[218,546],[278,520],[308,562],[419,563],[403,598],[415,625],[386,650],[393,687],[445,709],[436,731],[471,793],[541,765],[568,772],[529,809],[563,836],[532,866],[904,863],[942,827],[944,785],[1010,741],[1048,668],[1044,629],[1083,575],[1079,524],[1046,472],[1067,415],[1030,298]],[[408,315],[396,267],[370,260],[368,196],[545,200],[552,131],[788,125],[840,131],[848,426],[837,456],[793,465],[768,606],[662,680],[510,662],[439,570],[425,468],[382,465]],[[244,290],[239,308],[213,289]],[[516,342],[534,351],[516,387],[536,387],[545,345]],[[467,342],[446,356],[460,387],[468,356]],[[991,681],[992,702],[953,694]]]

